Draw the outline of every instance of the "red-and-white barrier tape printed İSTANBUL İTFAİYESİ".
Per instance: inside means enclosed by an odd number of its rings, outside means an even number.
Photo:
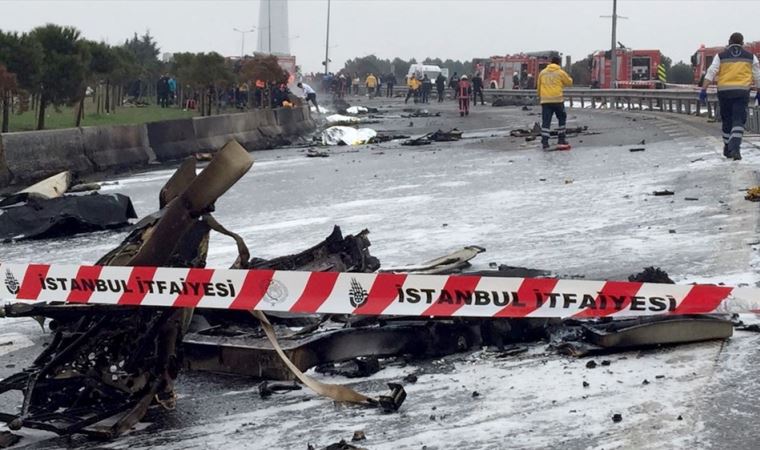
[[[0,265],[24,302],[437,317],[758,313],[760,289],[473,275]]]

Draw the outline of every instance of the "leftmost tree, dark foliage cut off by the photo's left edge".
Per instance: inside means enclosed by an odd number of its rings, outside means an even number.
[[[3,103],[2,132],[8,131],[11,92],[36,90],[42,58],[42,46],[28,34],[19,35],[0,31],[0,64],[4,65],[8,72],[14,74],[16,79],[15,91],[6,91],[6,97],[1,99]]]

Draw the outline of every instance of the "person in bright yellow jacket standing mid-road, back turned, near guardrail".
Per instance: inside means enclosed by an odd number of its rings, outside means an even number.
[[[538,98],[541,100],[541,146],[544,150],[549,148],[549,131],[551,130],[552,116],[557,116],[559,127],[558,145],[567,145],[565,138],[565,122],[567,113],[565,112],[564,89],[573,85],[573,79],[567,74],[560,64],[562,59],[559,56],[553,56],[551,64],[538,74]]]

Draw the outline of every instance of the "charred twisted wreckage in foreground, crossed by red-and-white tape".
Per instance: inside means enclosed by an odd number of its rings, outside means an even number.
[[[415,274],[476,273],[496,277],[552,277],[548,271],[500,266],[467,272],[485,249],[469,246],[402,267],[381,267],[369,251],[369,232],[344,235],[337,226],[322,242],[299,253],[265,260],[251,257],[243,239],[213,216],[214,203],[252,166],[249,154],[228,143],[202,171],[187,159],[159,194],[159,210],[142,219],[96,264],[204,267],[211,231],[237,245],[232,268],[317,272],[390,271]],[[2,217],[2,216],[0,216]],[[637,281],[667,281],[648,268]],[[182,370],[250,376],[262,398],[305,385],[337,401],[397,411],[407,377],[369,397],[345,386],[317,382],[303,372],[366,377],[387,358],[432,358],[491,346],[519,357],[519,343],[543,341],[564,354],[584,356],[633,347],[724,339],[732,324],[710,317],[562,321],[266,314],[226,310],[12,304],[8,317],[50,319],[52,340],[32,365],[0,380],[0,398],[16,391],[20,407],[0,412],[11,430],[22,427],[61,435],[114,438],[131,430],[151,407],[177,407],[175,380]],[[261,383],[260,380],[264,380]],[[296,380],[298,384],[292,384]],[[273,383],[281,382],[281,383]],[[276,401],[272,398],[269,401]],[[13,402],[10,402],[13,403]],[[8,405],[9,402],[5,402]],[[181,405],[179,405],[181,407]]]

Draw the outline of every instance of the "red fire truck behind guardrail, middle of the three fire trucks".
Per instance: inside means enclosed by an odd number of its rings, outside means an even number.
[[[612,51],[600,50],[591,55],[591,86],[610,89],[612,84]],[[662,85],[658,66],[662,60],[659,50],[615,49],[618,88],[654,89]]]

